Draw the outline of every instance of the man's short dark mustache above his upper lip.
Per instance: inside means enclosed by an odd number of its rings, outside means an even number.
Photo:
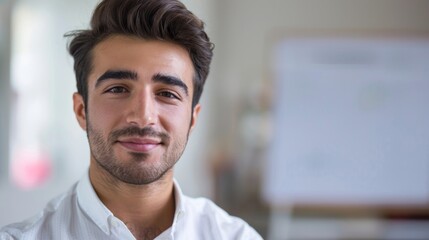
[[[161,142],[168,143],[170,136],[165,132],[158,132],[152,127],[127,127],[113,131],[109,139],[111,142],[115,142],[120,137],[154,137],[161,139]]]

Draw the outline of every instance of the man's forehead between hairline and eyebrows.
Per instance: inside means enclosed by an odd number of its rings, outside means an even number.
[[[193,85],[194,67],[187,50],[161,40],[114,35],[101,41],[92,51],[89,85],[108,70],[134,71],[142,79],[168,74],[182,79],[188,87]]]

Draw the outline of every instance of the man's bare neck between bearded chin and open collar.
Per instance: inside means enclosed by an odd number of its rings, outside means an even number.
[[[172,225],[175,211],[172,170],[153,183],[132,185],[91,162],[89,177],[100,200],[136,239],[154,238]]]

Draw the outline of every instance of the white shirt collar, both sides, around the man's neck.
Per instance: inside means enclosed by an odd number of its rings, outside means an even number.
[[[171,227],[171,234],[175,231],[177,221],[179,221],[185,213],[184,196],[176,179],[173,180],[173,188],[176,211],[174,214],[173,225]],[[113,214],[98,198],[89,179],[89,172],[79,181],[76,191],[79,205],[83,211],[92,219],[92,221],[94,221],[95,224],[97,224],[98,227],[101,228],[101,230],[103,230],[103,232],[110,234],[108,220],[113,217]]]

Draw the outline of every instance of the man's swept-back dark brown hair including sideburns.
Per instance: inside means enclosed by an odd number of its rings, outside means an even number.
[[[195,69],[192,99],[195,107],[209,73],[214,45],[204,31],[204,23],[178,0],[104,0],[94,11],[89,30],[65,35],[73,38],[69,52],[74,58],[77,90],[85,105],[92,50],[114,34],[169,41],[187,49]]]

